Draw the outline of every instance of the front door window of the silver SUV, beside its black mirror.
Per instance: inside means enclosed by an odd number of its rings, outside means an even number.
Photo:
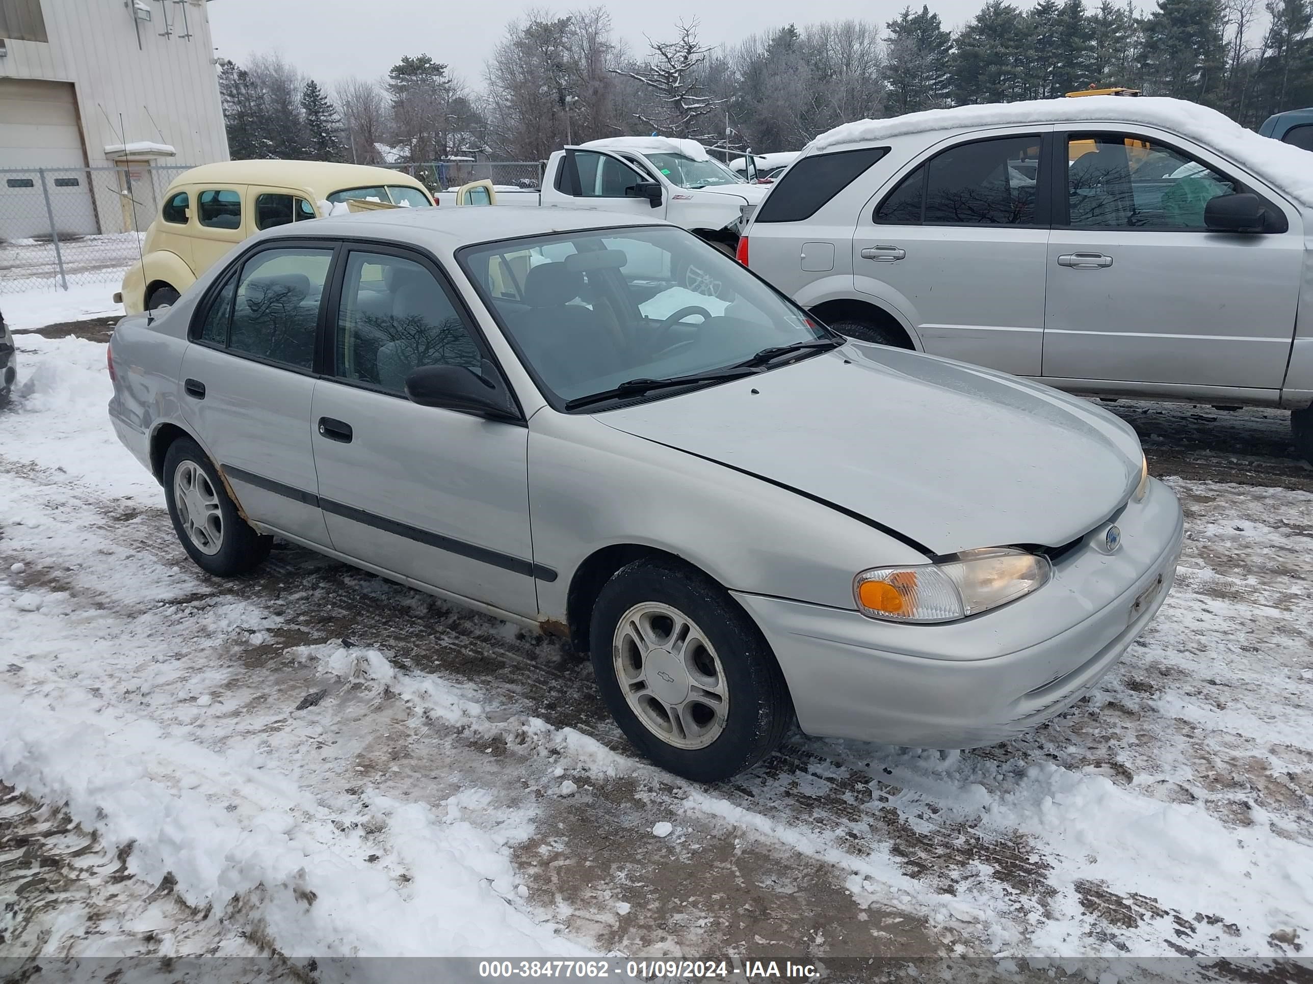
[[[1069,222],[1077,228],[1199,230],[1211,198],[1239,185],[1180,151],[1125,134],[1067,138]]]

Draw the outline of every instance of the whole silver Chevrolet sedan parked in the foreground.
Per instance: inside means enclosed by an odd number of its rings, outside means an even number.
[[[674,283],[689,262],[721,297]],[[110,366],[205,571],[281,537],[567,636],[695,779],[794,719],[939,748],[1033,727],[1144,631],[1182,539],[1116,417],[846,341],[663,222],[284,226],[121,321]]]

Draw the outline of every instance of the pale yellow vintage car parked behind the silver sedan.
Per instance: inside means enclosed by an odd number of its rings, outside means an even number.
[[[315,219],[351,201],[432,206],[419,181],[398,171],[316,160],[230,160],[183,172],[146,231],[140,262],[114,298],[138,314],[172,304],[247,236]]]

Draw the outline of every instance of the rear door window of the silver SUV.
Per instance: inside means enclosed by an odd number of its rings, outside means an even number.
[[[1001,136],[949,147],[876,206],[898,226],[1033,226],[1040,138]]]

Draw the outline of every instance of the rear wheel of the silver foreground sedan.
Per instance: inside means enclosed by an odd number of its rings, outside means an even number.
[[[232,577],[269,556],[273,537],[242,518],[214,464],[189,438],[180,437],[164,455],[164,500],[179,542],[202,571]]]

